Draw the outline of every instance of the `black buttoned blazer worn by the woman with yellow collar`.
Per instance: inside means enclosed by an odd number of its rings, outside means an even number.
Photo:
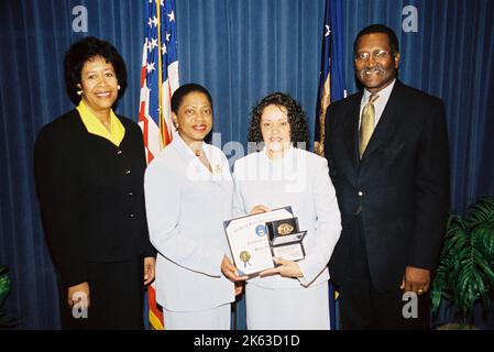
[[[144,144],[140,128],[119,117],[116,146],[87,132],[77,110],[45,125],[34,146],[43,224],[66,286],[88,279],[88,262],[154,255],[144,209]]]

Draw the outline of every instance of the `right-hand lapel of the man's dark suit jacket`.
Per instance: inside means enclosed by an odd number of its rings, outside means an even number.
[[[396,80],[386,107],[384,108],[383,114],[381,116],[380,122],[377,123],[377,127],[369,141],[364,155],[362,155],[362,161],[372,155],[372,153],[374,153],[394,135],[400,106],[399,90],[400,84]]]

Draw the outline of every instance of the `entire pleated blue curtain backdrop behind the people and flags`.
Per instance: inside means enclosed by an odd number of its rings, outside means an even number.
[[[245,143],[249,110],[273,90],[298,99],[314,128],[323,0],[178,0],[180,82],[212,94],[215,131]],[[488,0],[345,0],[349,92],[355,91],[352,42],[363,26],[392,26],[402,45],[400,79],[444,100],[452,161],[452,206],[463,211],[494,194],[494,3]],[[87,9],[87,32],[74,32],[74,8]],[[404,32],[404,8],[417,10],[417,32]],[[407,12],[408,13],[408,12]],[[77,24],[77,23],[76,23]],[[11,316],[24,329],[59,326],[53,265],[35,197],[32,147],[40,128],[72,108],[63,55],[95,35],[125,59],[129,89],[118,112],[136,120],[143,12],[131,0],[3,0],[0,2],[0,264],[9,265]],[[311,131],[314,132],[314,130]],[[232,158],[237,157],[234,153]],[[205,210],[207,211],[207,210]],[[240,305],[238,327],[244,327]]]

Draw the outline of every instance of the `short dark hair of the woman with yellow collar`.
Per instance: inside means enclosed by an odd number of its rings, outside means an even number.
[[[64,73],[65,73],[65,88],[67,95],[74,105],[80,102],[81,97],[77,95],[80,90],[77,87],[81,81],[83,67],[86,62],[92,57],[101,56],[107,63],[113,65],[117,80],[120,86],[117,101],[123,96],[127,88],[127,68],[122,56],[117,52],[113,45],[107,41],[101,41],[94,36],[85,37],[74,43],[65,53]]]

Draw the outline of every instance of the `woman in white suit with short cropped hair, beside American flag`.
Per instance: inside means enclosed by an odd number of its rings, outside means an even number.
[[[212,99],[196,84],[172,97],[178,135],[144,178],[150,239],[158,252],[156,300],[167,330],[228,330],[234,285],[222,222],[231,218],[233,183],[224,154],[204,142]]]

